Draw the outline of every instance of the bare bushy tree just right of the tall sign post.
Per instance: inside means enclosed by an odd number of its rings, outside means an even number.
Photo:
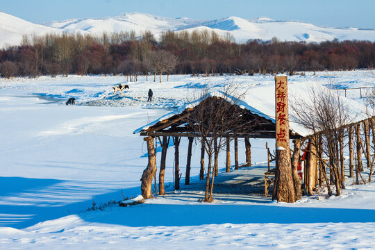
[[[291,108],[294,114],[291,118],[308,128],[311,134],[322,135],[322,142],[317,140],[317,136],[312,136],[310,142],[315,148],[319,148],[322,143],[323,153],[329,159],[328,168],[331,179],[335,183],[336,195],[340,196],[341,189],[344,188],[344,181],[343,173],[340,173],[339,142],[344,139],[344,126],[351,123],[349,107],[335,90],[310,85],[306,96],[307,94],[308,98],[292,97]],[[310,153],[315,152],[311,151]],[[318,154],[316,156],[323,162],[322,156]],[[324,169],[320,170],[324,172]],[[330,183],[327,179],[326,185],[328,194],[331,195]]]

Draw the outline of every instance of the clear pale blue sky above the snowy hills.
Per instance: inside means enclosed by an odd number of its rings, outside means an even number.
[[[142,12],[163,17],[271,17],[320,26],[375,28],[375,0],[0,0],[0,10],[42,24]]]

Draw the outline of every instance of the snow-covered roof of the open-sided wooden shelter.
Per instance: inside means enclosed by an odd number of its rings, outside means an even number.
[[[288,84],[288,94],[290,101],[304,99],[308,101],[309,99],[309,92],[311,88],[316,88],[319,91],[326,91],[328,90],[326,87],[323,87],[320,84],[316,83],[289,83]],[[136,129],[133,133],[141,133],[141,135],[160,135],[155,134],[157,131],[165,131],[164,129],[174,124],[174,122],[183,121],[184,116],[188,115],[190,110],[193,110],[194,107],[199,105],[203,99],[208,99],[210,97],[218,97],[222,99],[226,99],[229,102],[239,106],[244,110],[248,110],[249,113],[256,117],[258,121],[262,124],[266,125],[273,125],[275,126],[275,97],[274,97],[274,85],[263,85],[256,88],[251,88],[247,91],[247,94],[242,97],[242,99],[236,99],[235,97],[226,94],[222,91],[213,91],[210,92],[200,99],[196,101],[192,101],[191,103],[187,103],[180,108],[163,115],[162,117],[154,120],[153,122],[142,126]],[[366,115],[366,107],[363,104],[358,103],[357,101],[353,101],[351,99],[342,97],[341,100],[347,104],[349,107],[349,114],[350,114],[350,124],[363,121],[367,119]],[[290,138],[306,138],[313,134],[313,131],[309,131],[299,122],[295,122],[293,119],[295,114],[293,114],[293,110],[290,108]],[[349,125],[349,124],[348,124]],[[275,130],[274,129],[274,130]],[[259,133],[255,133],[252,138],[274,138],[268,136],[258,136]],[[268,133],[267,133],[268,135]],[[182,135],[183,136],[183,135]],[[186,135],[185,135],[186,136]]]

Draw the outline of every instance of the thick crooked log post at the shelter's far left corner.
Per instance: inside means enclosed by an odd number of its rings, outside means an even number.
[[[143,170],[142,174],[142,184],[141,184],[141,191],[142,197],[144,199],[150,199],[151,196],[151,186],[152,186],[152,178],[155,176],[156,173],[156,156],[155,156],[155,147],[153,146],[153,138],[151,136],[144,138],[147,142],[147,156],[149,159],[149,163],[147,164],[147,168]]]

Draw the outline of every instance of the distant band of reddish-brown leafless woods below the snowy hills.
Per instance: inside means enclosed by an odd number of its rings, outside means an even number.
[[[163,53],[161,53],[163,52]],[[158,56],[173,62],[161,69]],[[160,60],[163,60],[160,58]],[[163,63],[163,62],[159,62]],[[375,42],[306,43],[249,40],[235,43],[207,31],[146,31],[24,37],[0,51],[3,77],[57,74],[253,74],[374,68]],[[160,65],[159,65],[160,66]]]

